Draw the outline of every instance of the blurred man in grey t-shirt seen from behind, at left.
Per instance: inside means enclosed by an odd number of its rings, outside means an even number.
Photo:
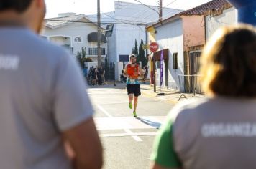
[[[44,16],[44,0],[0,1],[0,168],[101,168],[83,76],[38,35]]]

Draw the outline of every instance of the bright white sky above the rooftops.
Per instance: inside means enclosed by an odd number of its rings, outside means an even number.
[[[101,13],[114,11],[114,1],[101,0]],[[135,0],[122,0],[138,4]],[[158,0],[140,0],[143,4],[157,6]],[[173,9],[191,9],[211,0],[163,0],[163,7]],[[57,17],[59,13],[97,14],[97,0],[45,0],[47,13],[45,18]]]

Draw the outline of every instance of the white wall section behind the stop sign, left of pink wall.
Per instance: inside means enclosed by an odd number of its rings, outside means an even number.
[[[156,61],[156,85],[160,86],[160,52],[163,50],[163,87],[178,90],[179,74],[184,74],[183,58],[183,20],[180,16],[173,16],[152,26],[155,30],[155,42],[159,44],[159,51],[154,53]],[[152,28],[151,27],[151,28]],[[167,61],[168,59],[168,61]]]

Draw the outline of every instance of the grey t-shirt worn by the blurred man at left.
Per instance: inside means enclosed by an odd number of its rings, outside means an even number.
[[[78,64],[28,29],[0,37],[0,168],[70,169],[61,132],[93,114]]]

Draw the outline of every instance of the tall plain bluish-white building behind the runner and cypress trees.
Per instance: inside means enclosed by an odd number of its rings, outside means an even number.
[[[144,6],[123,1],[114,2],[114,12],[101,14],[101,21],[104,23],[114,23],[114,29],[108,41],[108,58],[110,62],[116,64],[115,79],[119,79],[122,74],[124,63],[134,48],[135,39],[140,45],[141,39],[146,43],[147,33],[145,27],[156,23],[159,19],[157,6]],[[179,13],[181,10],[163,8],[163,19]],[[88,16],[91,20],[96,16]]]

